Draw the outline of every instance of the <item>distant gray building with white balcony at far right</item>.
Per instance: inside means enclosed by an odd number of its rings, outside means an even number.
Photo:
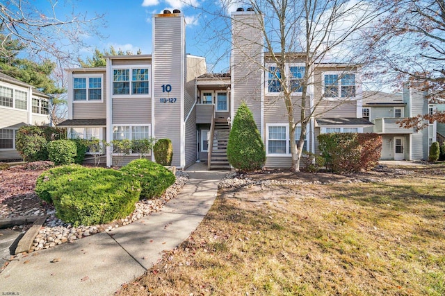
[[[429,147],[436,141],[437,123],[427,128],[401,128],[401,119],[434,112],[435,105],[428,104],[425,93],[405,87],[403,94],[365,92],[362,116],[374,125],[364,132],[382,136],[382,160],[428,159]]]

